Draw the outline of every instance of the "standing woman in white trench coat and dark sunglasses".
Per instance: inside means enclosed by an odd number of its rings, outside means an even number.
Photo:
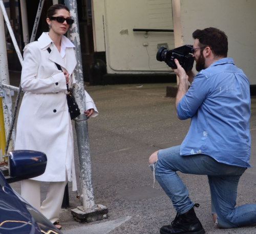
[[[76,58],[73,43],[65,34],[72,24],[69,9],[53,5],[47,12],[49,33],[24,49],[22,88],[26,91],[20,106],[15,150],[46,153],[46,171],[41,176],[22,181],[22,197],[45,215],[57,228],[59,212],[68,181],[76,188],[73,132],[67,105],[67,86],[75,85]],[[51,49],[51,53],[47,49]],[[59,71],[56,64],[62,71]],[[86,93],[87,116],[98,114]],[[40,205],[40,181],[49,181],[46,200]]]

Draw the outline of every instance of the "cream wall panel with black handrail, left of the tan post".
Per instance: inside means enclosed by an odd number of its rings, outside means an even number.
[[[93,13],[95,51],[106,51],[108,73],[170,71],[156,53],[158,43],[175,48],[174,33],[133,29],[173,29],[172,0],[93,0]]]

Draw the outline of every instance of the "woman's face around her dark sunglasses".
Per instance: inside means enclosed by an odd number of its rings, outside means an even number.
[[[70,18],[70,13],[65,9],[60,9],[56,11],[53,17]],[[69,29],[69,25],[67,24],[66,20],[60,23],[55,19],[49,20],[49,18],[47,18],[47,22],[48,24],[51,24],[51,30],[57,34],[65,34]]]

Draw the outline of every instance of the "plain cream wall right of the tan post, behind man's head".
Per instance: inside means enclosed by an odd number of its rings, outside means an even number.
[[[177,1],[177,0],[173,0]],[[228,57],[256,84],[256,1],[179,0],[183,44],[193,44],[196,29],[218,28],[228,36]]]

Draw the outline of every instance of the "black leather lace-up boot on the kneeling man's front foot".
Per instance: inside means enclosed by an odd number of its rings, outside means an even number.
[[[199,219],[196,216],[194,207],[199,207],[195,204],[191,209],[183,215],[177,213],[171,225],[162,226],[161,234],[204,234],[205,230]]]

